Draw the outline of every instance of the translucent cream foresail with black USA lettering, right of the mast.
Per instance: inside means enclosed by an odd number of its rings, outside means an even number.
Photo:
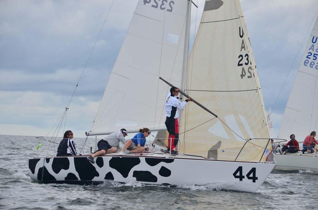
[[[186,154],[233,161],[244,139],[269,137],[259,79],[239,1],[205,2],[189,58],[186,90],[219,117],[211,120],[213,115],[191,102],[187,104],[182,132],[194,129],[185,133]],[[237,161],[261,159],[268,139],[250,142],[253,144],[246,144]],[[271,145],[267,148],[263,161],[271,152]]]

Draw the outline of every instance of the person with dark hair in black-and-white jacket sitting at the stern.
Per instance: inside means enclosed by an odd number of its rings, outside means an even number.
[[[67,130],[64,133],[64,137],[59,144],[58,153],[56,156],[70,156],[77,155],[76,148],[73,139],[73,132],[71,130]]]

